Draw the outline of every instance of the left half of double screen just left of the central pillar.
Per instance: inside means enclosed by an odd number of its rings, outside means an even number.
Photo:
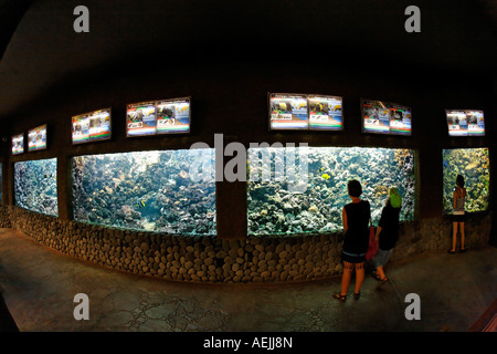
[[[127,136],[156,134],[156,103],[144,102],[128,105],[126,110],[126,132]]]

